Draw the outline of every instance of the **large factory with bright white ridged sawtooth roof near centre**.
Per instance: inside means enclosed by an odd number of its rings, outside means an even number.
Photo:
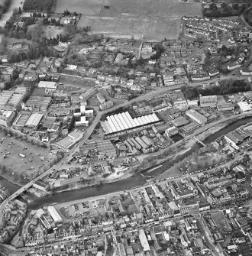
[[[105,137],[111,138],[134,131],[141,131],[154,124],[159,125],[162,123],[163,121],[155,113],[131,118],[128,112],[122,112],[107,116],[106,120],[101,122],[101,125],[105,131]]]

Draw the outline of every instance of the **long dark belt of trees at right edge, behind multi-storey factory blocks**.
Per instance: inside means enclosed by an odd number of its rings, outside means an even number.
[[[202,96],[225,95],[237,92],[247,92],[251,89],[250,84],[243,80],[224,80],[220,83],[221,86],[211,86],[207,89],[183,86],[181,87],[181,90],[186,96],[186,99],[195,99],[199,97],[199,94],[202,94]]]

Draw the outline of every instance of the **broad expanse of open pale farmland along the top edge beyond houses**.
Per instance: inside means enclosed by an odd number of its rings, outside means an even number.
[[[179,0],[57,0],[56,12],[65,8],[82,13],[79,26],[94,33],[153,41],[178,38],[183,15],[202,16],[200,3]]]

